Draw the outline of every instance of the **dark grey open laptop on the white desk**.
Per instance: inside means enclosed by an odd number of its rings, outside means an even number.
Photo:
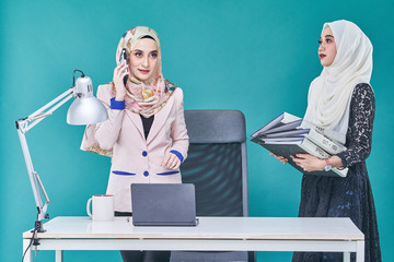
[[[131,183],[135,226],[197,226],[193,183]]]

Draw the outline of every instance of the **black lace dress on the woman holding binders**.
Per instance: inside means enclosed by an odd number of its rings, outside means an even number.
[[[347,151],[338,154],[346,178],[304,175],[300,217],[350,217],[366,238],[366,262],[381,261],[376,213],[366,159],[371,152],[374,94],[369,84],[358,84],[350,103]],[[343,253],[294,252],[293,262],[343,261]],[[351,254],[355,261],[355,254]]]

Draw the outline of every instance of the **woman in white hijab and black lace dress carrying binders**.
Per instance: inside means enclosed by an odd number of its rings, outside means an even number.
[[[346,178],[304,175],[300,217],[350,217],[366,238],[366,262],[381,261],[378,222],[366,159],[371,152],[374,94],[372,45],[351,22],[326,23],[318,57],[324,67],[310,86],[304,126],[318,124],[339,134],[347,150],[328,159],[297,154],[305,171],[348,168]],[[288,159],[276,156],[282,163]],[[296,252],[293,262],[343,261],[341,253]],[[352,254],[351,261],[355,261]]]

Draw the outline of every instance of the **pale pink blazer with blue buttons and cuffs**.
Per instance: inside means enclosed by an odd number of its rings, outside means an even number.
[[[99,86],[97,98],[105,104],[109,118],[96,126],[94,138],[101,148],[113,151],[106,193],[115,195],[115,211],[131,212],[131,183],[181,183],[179,169],[162,168],[160,163],[172,150],[187,157],[182,90],[177,87],[154,115],[148,139],[138,114],[109,108],[111,84]]]

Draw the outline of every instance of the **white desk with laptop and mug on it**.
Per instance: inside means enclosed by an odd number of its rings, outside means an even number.
[[[200,217],[197,227],[135,227],[126,217],[92,222],[89,217],[56,217],[38,234],[38,250],[199,250],[357,252],[364,261],[364,237],[349,218]],[[23,250],[31,231],[23,234]],[[31,248],[32,250],[32,248]],[[33,247],[34,250],[34,247]],[[32,261],[27,251],[24,261]]]

